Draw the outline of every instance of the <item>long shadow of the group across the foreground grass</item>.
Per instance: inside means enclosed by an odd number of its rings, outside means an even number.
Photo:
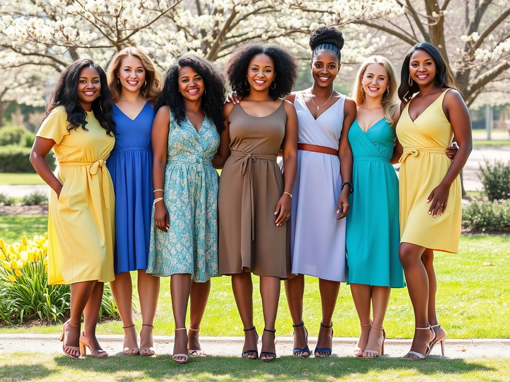
[[[328,381],[355,375],[356,379],[373,376],[442,376],[446,379],[463,380],[463,374],[471,372],[495,372],[497,369],[483,363],[462,359],[430,358],[423,361],[380,358],[360,360],[356,358],[296,359],[282,357],[271,363],[260,360],[243,360],[230,357],[195,358],[186,365],[172,361],[171,356],[155,358],[110,357],[104,360],[87,357],[83,360],[71,360],[65,356],[55,359],[56,364],[66,372],[77,374],[91,371],[105,380],[134,381],[143,378],[165,380],[313,380]],[[74,370],[74,371],[73,371]],[[451,378],[448,378],[451,376]],[[469,377],[466,375],[469,379]]]

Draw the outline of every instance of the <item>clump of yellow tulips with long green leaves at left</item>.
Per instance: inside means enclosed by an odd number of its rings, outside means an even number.
[[[48,243],[45,236],[7,245],[0,239],[0,322],[24,318],[61,322],[69,316],[69,285],[48,285]],[[105,285],[99,318],[118,318],[109,285]]]

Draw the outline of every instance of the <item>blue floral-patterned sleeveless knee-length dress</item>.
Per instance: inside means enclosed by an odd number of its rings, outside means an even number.
[[[208,116],[197,132],[187,118],[177,123],[170,112],[164,186],[170,228],[156,228],[153,209],[148,274],[191,274],[201,283],[218,276],[219,177],[212,159],[219,144]]]

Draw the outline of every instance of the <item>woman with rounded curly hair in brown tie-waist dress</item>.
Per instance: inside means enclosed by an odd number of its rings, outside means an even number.
[[[259,357],[251,273],[260,276],[263,361],[276,358],[280,281],[292,277],[287,220],[297,168],[297,115],[294,105],[281,98],[290,94],[296,71],[295,58],[284,49],[249,43],[234,50],[227,75],[243,99],[225,105],[226,130],[214,163],[224,163],[218,195],[219,272],[232,276],[245,332],[241,356],[249,359]],[[276,163],[282,144],[284,176]]]

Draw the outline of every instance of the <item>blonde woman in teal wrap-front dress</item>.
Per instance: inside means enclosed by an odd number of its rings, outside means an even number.
[[[391,165],[396,139],[392,123],[398,118],[396,85],[390,61],[375,56],[362,64],[352,91],[358,113],[348,135],[354,192],[349,200],[352,212],[347,215],[346,248],[348,283],[362,328],[356,357],[384,354],[382,322],[391,288],[405,286],[398,258],[398,179]]]

